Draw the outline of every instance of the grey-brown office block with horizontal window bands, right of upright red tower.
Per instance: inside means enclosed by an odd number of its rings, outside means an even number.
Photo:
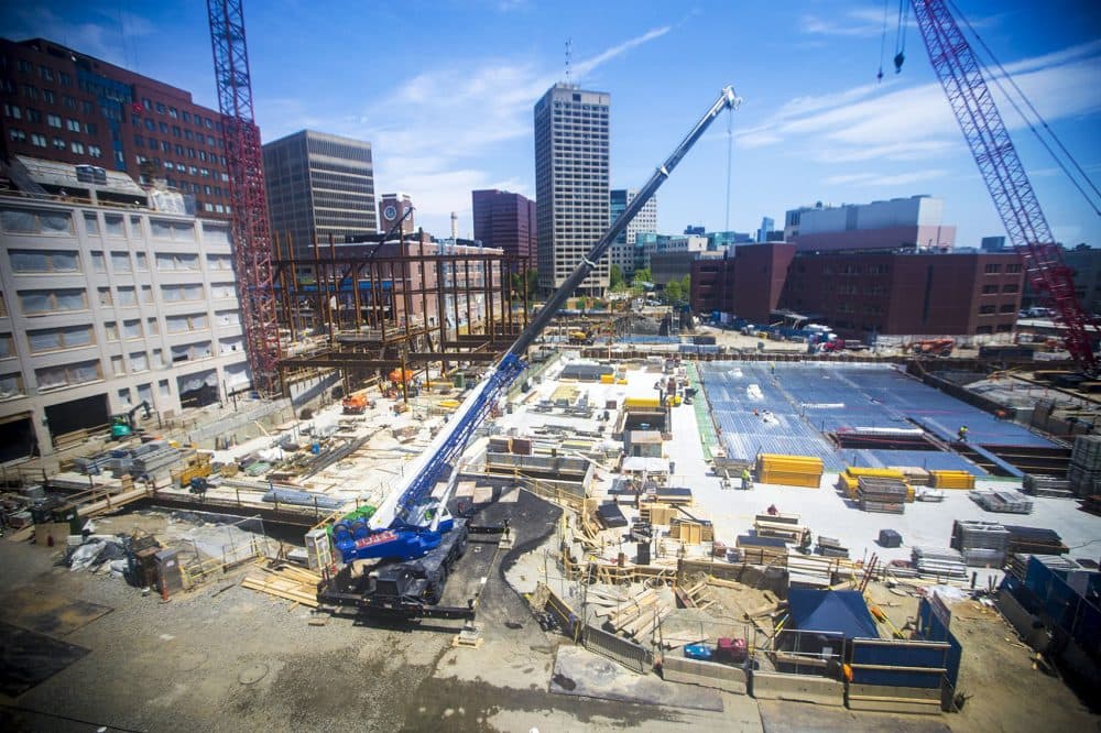
[[[374,164],[371,143],[301,130],[265,143],[264,179],[272,237],[283,251],[313,252],[348,237],[373,234]]]

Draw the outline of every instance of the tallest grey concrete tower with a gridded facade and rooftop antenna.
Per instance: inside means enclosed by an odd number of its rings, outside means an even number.
[[[556,84],[535,103],[539,289],[552,292],[608,229],[610,96]],[[603,295],[609,260],[578,288]]]

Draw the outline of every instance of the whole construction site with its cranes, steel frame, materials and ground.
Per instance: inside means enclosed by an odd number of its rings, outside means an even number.
[[[914,6],[933,55],[959,31]],[[1043,360],[589,307],[726,87],[539,297],[402,220],[303,256],[210,7],[254,389],[3,467],[7,730],[1097,727],[1097,329],[1042,215],[1006,225]]]

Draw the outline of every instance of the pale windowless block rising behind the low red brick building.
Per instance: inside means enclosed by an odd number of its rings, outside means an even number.
[[[931,196],[792,209],[784,241],[800,252],[837,250],[950,250],[956,227],[941,223],[945,203]]]

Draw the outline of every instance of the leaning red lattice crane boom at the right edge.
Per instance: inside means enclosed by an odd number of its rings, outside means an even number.
[[[1098,372],[1092,318],[1075,295],[1072,272],[1062,261],[1039,208],[982,68],[945,0],[912,0],[929,61],[959,121],[998,214],[1024,265],[1028,283],[1059,314],[1067,350],[1088,374]],[[901,64],[901,61],[896,61]]]

